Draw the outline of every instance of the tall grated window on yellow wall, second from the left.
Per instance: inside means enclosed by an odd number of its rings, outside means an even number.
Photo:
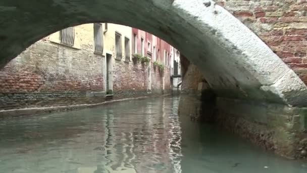
[[[97,54],[103,54],[103,51],[103,25],[101,23],[94,23],[94,52]]]

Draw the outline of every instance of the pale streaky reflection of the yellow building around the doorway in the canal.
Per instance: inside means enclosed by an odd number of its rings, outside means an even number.
[[[101,154],[97,154],[97,167],[80,167],[78,173],[135,173],[131,164],[133,154],[131,152],[131,133],[122,132],[125,128],[116,128],[113,110],[106,112],[105,144],[101,147]],[[128,134],[128,135],[127,135]],[[124,139],[124,140],[123,140]]]

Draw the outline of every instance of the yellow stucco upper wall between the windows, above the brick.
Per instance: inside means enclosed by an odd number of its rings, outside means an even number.
[[[105,29],[106,24],[103,23],[103,31]],[[103,34],[104,37],[104,53],[103,56],[106,54],[111,54],[113,58],[116,57],[115,51],[115,33],[118,32],[121,34],[122,38],[122,61],[125,60],[125,37],[129,39],[129,48],[130,54],[132,49],[132,28],[124,25],[117,25],[108,23],[108,30]],[[60,40],[60,31],[55,32],[49,36],[47,36],[48,40],[55,42],[56,44],[61,44]],[[75,41],[72,48],[80,49],[80,50],[87,50],[94,52],[94,33],[93,33],[93,24],[84,24],[75,26]],[[131,60],[131,55],[130,60]]]

